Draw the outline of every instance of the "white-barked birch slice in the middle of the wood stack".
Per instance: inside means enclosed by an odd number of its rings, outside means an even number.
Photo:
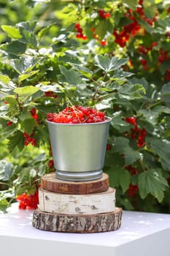
[[[115,211],[115,189],[88,195],[69,195],[39,189],[39,209],[57,214],[101,214]]]

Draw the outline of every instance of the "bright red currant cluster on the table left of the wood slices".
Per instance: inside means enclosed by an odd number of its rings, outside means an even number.
[[[38,190],[33,195],[26,195],[26,193],[23,193],[22,195],[19,195],[16,197],[16,200],[19,202],[19,209],[36,209],[39,204],[39,193]]]

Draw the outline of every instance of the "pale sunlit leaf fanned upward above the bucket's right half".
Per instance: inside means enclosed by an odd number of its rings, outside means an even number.
[[[110,72],[115,69],[119,69],[121,66],[126,64],[128,59],[118,59],[116,56],[109,59],[108,54],[96,55],[95,63],[97,67],[100,67],[105,72]]]

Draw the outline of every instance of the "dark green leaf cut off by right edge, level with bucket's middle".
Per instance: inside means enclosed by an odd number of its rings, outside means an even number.
[[[161,159],[163,169],[169,170],[170,166],[170,142],[169,140],[146,138],[147,144],[150,145],[152,151]]]

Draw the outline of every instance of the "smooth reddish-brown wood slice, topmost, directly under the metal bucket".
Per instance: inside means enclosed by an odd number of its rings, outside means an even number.
[[[41,178],[41,187],[47,191],[62,194],[92,194],[107,191],[109,176],[103,173],[95,181],[62,181],[56,178],[55,173],[48,173]]]

